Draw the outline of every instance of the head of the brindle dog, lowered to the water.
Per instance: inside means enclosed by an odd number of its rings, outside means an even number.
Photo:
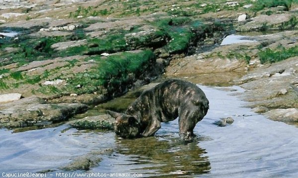
[[[115,133],[122,138],[134,138],[140,134],[140,124],[136,117],[124,113],[107,110],[108,114],[116,119]]]

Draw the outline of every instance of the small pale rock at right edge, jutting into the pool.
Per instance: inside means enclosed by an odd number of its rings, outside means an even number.
[[[264,115],[274,121],[298,122],[298,108],[273,109]]]

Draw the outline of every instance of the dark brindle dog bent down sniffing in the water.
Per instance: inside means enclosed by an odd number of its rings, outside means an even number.
[[[161,122],[179,116],[179,135],[192,140],[196,124],[209,109],[205,93],[196,85],[182,80],[168,80],[144,91],[127,109],[126,114],[107,110],[115,121],[115,133],[124,138],[151,136]]]

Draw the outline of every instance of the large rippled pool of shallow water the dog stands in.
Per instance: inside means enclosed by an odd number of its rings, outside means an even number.
[[[200,88],[210,100],[210,110],[194,130],[198,135],[195,142],[179,141],[177,120],[162,123],[154,137],[139,139],[119,139],[113,132],[77,131],[67,125],[15,134],[0,130],[0,174],[54,170],[47,177],[56,177],[63,172],[59,167],[76,156],[113,148],[111,155],[102,156],[102,162],[85,173],[202,178],[298,176],[297,127],[241,107],[245,103],[236,97],[243,92],[239,87]],[[235,120],[233,124],[213,124],[228,116]]]

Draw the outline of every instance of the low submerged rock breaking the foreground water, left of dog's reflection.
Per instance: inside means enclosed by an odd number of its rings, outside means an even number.
[[[97,166],[98,163],[101,162],[102,156],[111,155],[112,153],[113,149],[91,151],[83,156],[74,158],[71,163],[64,167],[61,167],[60,169],[64,171],[87,171],[90,168]]]

